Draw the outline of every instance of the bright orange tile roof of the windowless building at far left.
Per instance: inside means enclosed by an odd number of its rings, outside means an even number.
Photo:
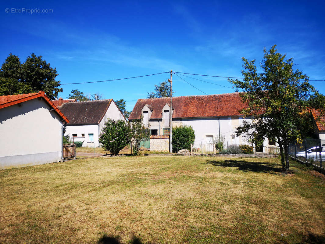
[[[59,108],[49,99],[44,91],[39,91],[35,93],[28,94],[18,94],[18,95],[9,95],[9,96],[0,96],[0,109],[6,108],[21,102],[26,102],[35,98],[42,97],[44,100],[64,119],[69,123],[69,119],[59,110]]]

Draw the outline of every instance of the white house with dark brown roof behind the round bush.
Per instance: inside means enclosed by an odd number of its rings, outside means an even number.
[[[66,102],[60,110],[69,118],[64,135],[83,147],[98,147],[98,138],[107,119],[126,121],[113,99],[87,102]]]

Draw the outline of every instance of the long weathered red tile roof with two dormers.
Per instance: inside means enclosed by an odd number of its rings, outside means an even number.
[[[173,118],[240,116],[240,110],[247,108],[240,92],[204,96],[173,97]],[[162,118],[162,108],[170,103],[170,97],[139,99],[129,120],[139,119],[145,104],[152,107],[151,119]]]

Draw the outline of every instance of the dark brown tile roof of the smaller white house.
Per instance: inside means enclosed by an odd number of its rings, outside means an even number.
[[[69,125],[99,124],[112,101],[113,99],[67,102],[60,109],[70,119]]]

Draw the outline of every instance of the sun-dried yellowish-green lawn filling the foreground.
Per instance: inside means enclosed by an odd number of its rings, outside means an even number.
[[[325,180],[291,169],[121,156],[0,170],[0,243],[324,243]]]

